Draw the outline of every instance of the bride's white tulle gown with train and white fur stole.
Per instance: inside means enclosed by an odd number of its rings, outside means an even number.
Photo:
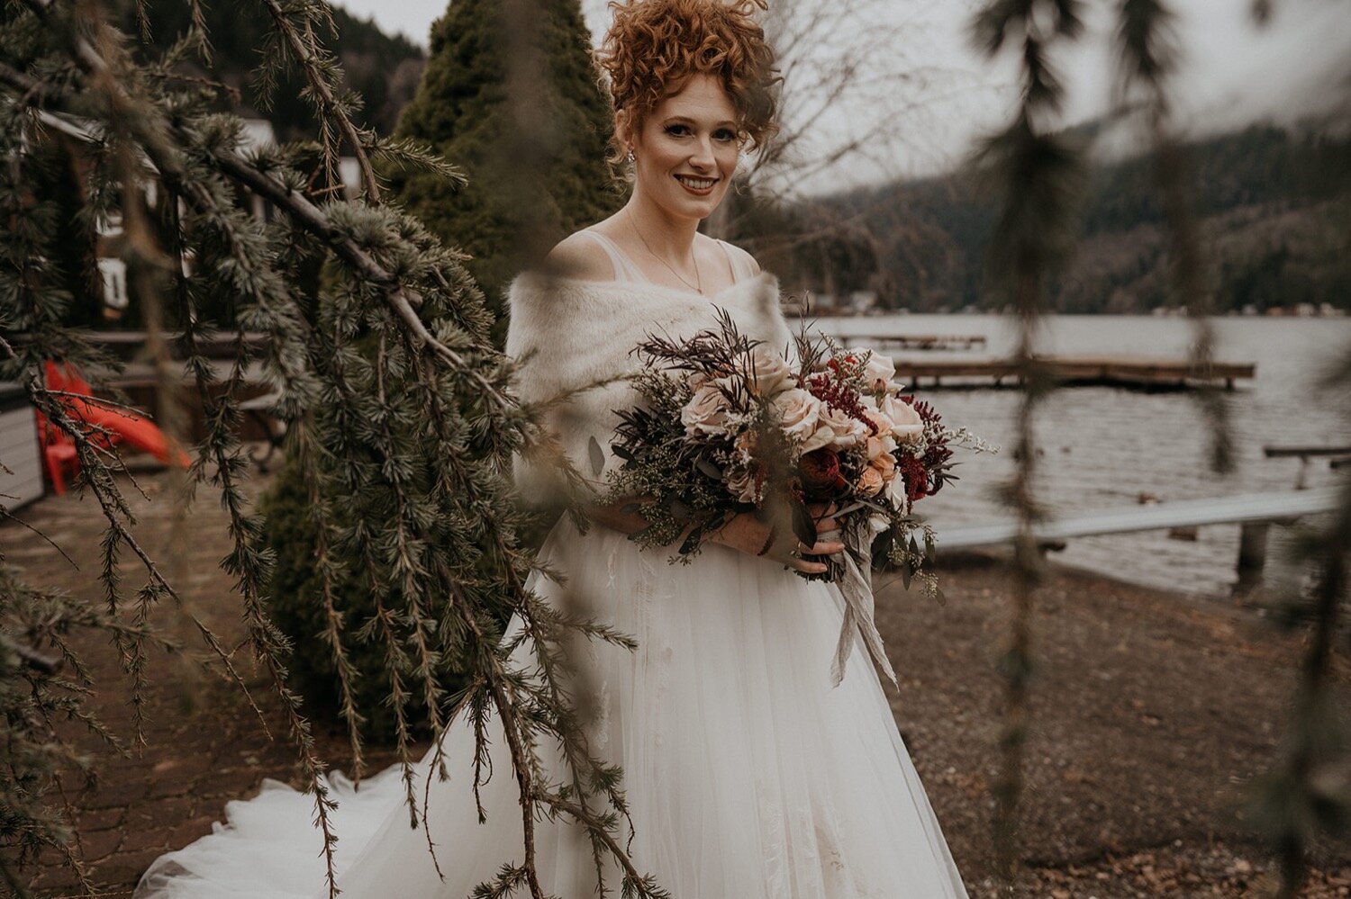
[[[708,327],[715,305],[753,335],[786,335],[770,275],[734,262],[736,282],[709,300],[640,282],[616,247],[607,250],[615,283],[546,285],[530,275],[513,283],[508,351],[535,351],[523,394],[631,364],[627,351],[644,331],[693,333]],[[608,445],[612,409],[632,404],[627,390],[612,385],[578,398],[559,425],[576,459],[588,458],[597,432]],[[638,641],[636,651],[592,643],[582,653],[594,694],[592,748],[623,765],[638,869],[673,899],[966,896],[861,643],[843,682],[831,686],[839,591],[724,547],[692,564],[670,564],[669,555],[600,526],[580,535],[566,518],[542,549],[567,574],[573,595]],[[553,580],[535,575],[532,587],[563,601]],[[521,664],[526,651],[517,651]],[[332,776],[343,896],[463,899],[504,863],[521,861],[517,786],[500,730],[492,736],[486,823],[477,819],[474,737],[463,722],[444,737],[451,776],[432,778],[427,832],[409,826],[397,767],[359,790]],[[267,782],[257,798],[228,803],[215,833],[157,860],[136,899],[327,895],[312,813],[312,796]],[[536,817],[535,845],[546,892],[597,895],[590,845],[576,825]],[[612,895],[619,884],[611,868]]]

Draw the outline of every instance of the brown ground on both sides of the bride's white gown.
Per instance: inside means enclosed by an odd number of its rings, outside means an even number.
[[[147,548],[178,570],[189,605],[228,645],[243,636],[238,601],[218,560],[224,520],[203,490],[190,518],[166,502],[163,475],[135,499]],[[23,513],[61,543],[74,571],[41,539],[0,526],[5,555],[39,583],[97,601],[99,522],[89,501],[49,498]],[[127,583],[139,584],[128,563]],[[1298,641],[1250,611],[1054,571],[1038,598],[1038,678],[1017,886],[989,877],[989,784],[996,771],[1000,682],[993,659],[1008,607],[996,564],[942,572],[947,605],[881,591],[880,626],[901,678],[892,706],[973,896],[1258,896],[1270,863],[1239,814],[1243,786],[1274,757],[1293,692]],[[134,587],[132,587],[134,589]],[[165,621],[169,621],[165,610]],[[190,640],[190,634],[185,634]],[[103,691],[99,714],[130,733],[127,684],[112,648],[82,641]],[[240,653],[242,655],[242,653]],[[293,780],[265,682],[251,688],[278,740],[263,733],[238,688],[196,674],[181,657],[151,661],[147,746],[104,753],[103,786],[80,798],[77,833],[101,895],[123,896],[159,853],[211,830],[226,800],[263,778]],[[322,755],[347,767],[340,733]],[[373,753],[378,769],[390,753]],[[1309,896],[1351,895],[1351,856],[1323,852]],[[77,895],[59,867],[35,872],[50,896]]]

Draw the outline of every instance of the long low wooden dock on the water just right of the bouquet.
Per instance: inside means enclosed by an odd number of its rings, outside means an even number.
[[[1216,362],[1209,378],[1198,377],[1188,359],[1150,356],[1040,356],[1050,375],[1063,386],[1116,386],[1174,389],[1201,385],[1224,385],[1232,390],[1240,379],[1256,375],[1252,362]],[[1017,385],[1017,366],[1012,359],[897,359],[897,378],[913,386],[938,387],[965,385]],[[927,383],[925,383],[927,382]]]

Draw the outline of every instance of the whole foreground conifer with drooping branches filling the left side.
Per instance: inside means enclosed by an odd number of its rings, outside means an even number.
[[[628,859],[619,836],[627,809],[621,772],[586,744],[559,655],[565,641],[577,638],[626,647],[632,641],[604,625],[559,616],[535,595],[527,587],[536,570],[534,553],[516,540],[520,516],[507,474],[512,458],[520,452],[546,454],[557,464],[566,460],[539,440],[540,410],[511,394],[511,360],[492,346],[492,317],[461,265],[462,254],[382,201],[372,159],[422,166],[447,180],[455,173],[424,146],[382,138],[353,120],[358,103],[343,93],[340,66],[320,42],[334,30],[327,4],[259,0],[258,7],[270,26],[257,77],[267,84],[269,73],[288,67],[304,76],[304,97],[323,123],[317,170],[311,165],[316,144],[242,153],[243,123],[218,111],[208,85],[176,74],[185,57],[196,53],[200,62],[208,46],[196,19],[184,42],[141,61],[112,24],[108,4],[24,0],[5,7],[0,379],[20,382],[28,401],[73,443],[82,489],[107,530],[91,575],[101,594],[93,603],[27,583],[0,552],[0,718],[7,722],[0,745],[0,886],[5,895],[26,894],[20,868],[47,850],[63,852],[78,865],[68,845],[72,809],[55,800],[62,786],[55,775],[62,767],[88,768],[88,761],[69,732],[53,722],[84,721],[96,734],[112,734],[82,709],[84,697],[104,686],[95,684],[93,670],[73,655],[65,640],[70,630],[112,633],[131,682],[130,740],[143,734],[146,656],[165,645],[153,624],[158,603],[174,603],[192,620],[215,663],[240,688],[254,674],[245,668],[245,652],[226,647],[176,602],[176,586],[138,541],[119,460],[97,444],[97,428],[80,406],[38,377],[47,359],[74,363],[96,379],[111,363],[63,319],[70,292],[54,251],[62,240],[62,211],[34,177],[42,166],[36,138],[54,116],[78,119],[96,135],[88,146],[93,165],[78,221],[92,223],[100,211],[120,204],[124,252],[135,273],[128,282],[142,308],[155,313],[146,316],[147,328],[162,337],[161,313],[177,310],[177,343],[207,431],[188,481],[219,489],[232,541],[220,564],[239,593],[247,648],[257,672],[272,684],[303,786],[315,796],[332,892],[334,800],[311,721],[290,686],[290,641],[269,611],[273,553],[245,489],[249,466],[236,432],[239,397],[251,371],[278,389],[272,410],[288,425],[309,499],[309,602],[322,616],[320,632],[309,630],[304,640],[330,653],[353,769],[363,768],[361,726],[372,711],[358,699],[355,665],[370,652],[381,660],[380,705],[394,719],[415,822],[415,728],[423,725],[432,736],[430,771],[443,771],[442,737],[453,721],[473,728],[474,759],[486,757],[489,718],[511,752],[512,771],[499,776],[512,776],[520,791],[521,856],[476,895],[507,895],[524,886],[542,898],[534,826],[563,814],[589,837],[598,884],[613,860],[624,895],[665,895]],[[520,16],[516,22],[523,31],[535,24]],[[143,18],[136,24],[150,30]],[[358,198],[334,190],[339,153],[361,167],[365,192]],[[150,184],[154,192],[145,189]],[[265,197],[278,215],[265,221],[249,215],[249,194]],[[316,259],[330,266],[324,278],[315,277]],[[211,336],[203,312],[226,301],[234,304],[236,335],[262,332],[267,340],[259,347],[236,340],[234,362],[222,373],[203,355]],[[157,362],[165,389],[181,383],[166,348]],[[131,560],[139,563],[139,589],[126,564]],[[336,590],[351,571],[378,610],[370,626],[355,628],[340,606]],[[508,616],[520,625],[509,641],[500,626]],[[527,667],[513,653],[517,647],[528,647]],[[62,659],[72,676],[51,676]],[[444,688],[447,671],[463,672],[463,688]],[[544,748],[563,753],[561,778],[546,773]],[[489,773],[476,767],[476,788]],[[92,884],[85,890],[92,892]]]

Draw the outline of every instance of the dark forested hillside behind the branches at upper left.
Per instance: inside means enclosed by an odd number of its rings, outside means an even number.
[[[131,4],[127,4],[128,7]],[[153,23],[150,46],[158,51],[169,47],[186,28],[192,9],[174,0],[147,0]],[[280,140],[313,138],[317,131],[309,104],[301,99],[303,78],[282,74],[272,108],[258,104],[250,72],[258,65],[258,51],[270,34],[261,4],[203,4],[207,31],[211,34],[209,70],[196,74],[222,81],[242,92],[238,111],[272,121]],[[389,36],[374,22],[358,19],[334,7],[336,35],[323,35],[324,43],[338,55],[346,84],[365,100],[365,109],[355,116],[358,124],[389,134],[399,120],[399,111],[412,99],[423,69],[423,51],[401,35]],[[131,11],[126,15],[127,34],[139,34]]]

